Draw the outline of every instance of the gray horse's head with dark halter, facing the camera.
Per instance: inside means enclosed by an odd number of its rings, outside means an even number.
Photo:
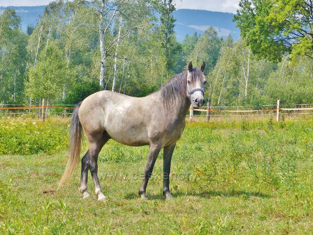
[[[203,74],[205,68],[204,62],[201,67],[192,67],[192,62],[189,62],[187,71],[187,96],[190,98],[191,105],[194,108],[200,108],[204,104],[204,89],[206,78]]]

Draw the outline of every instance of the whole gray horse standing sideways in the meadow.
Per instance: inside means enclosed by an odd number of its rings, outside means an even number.
[[[105,201],[99,179],[98,154],[110,139],[129,146],[149,144],[148,161],[139,195],[147,198],[146,188],[156,158],[163,148],[163,195],[171,198],[169,174],[176,142],[185,128],[185,118],[190,105],[201,107],[204,103],[204,62],[200,68],[188,69],[172,77],[159,91],[146,97],[131,97],[110,91],[89,95],[77,105],[69,127],[69,158],[59,188],[68,181],[80,157],[82,129],[89,142],[89,150],[82,159],[79,191],[84,198],[90,196],[87,189],[88,170],[99,201]]]

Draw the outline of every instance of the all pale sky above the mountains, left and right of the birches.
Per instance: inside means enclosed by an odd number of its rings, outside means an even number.
[[[0,6],[38,6],[51,0],[0,0]],[[236,13],[239,0],[176,0],[176,9],[201,9]]]

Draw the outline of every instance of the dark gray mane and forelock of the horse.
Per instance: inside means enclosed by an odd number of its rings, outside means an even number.
[[[163,104],[168,106],[170,103],[176,103],[180,98],[186,97],[187,89],[187,71],[174,75],[167,83],[165,83],[161,89],[161,96]],[[193,68],[191,71],[190,82],[192,83],[198,76],[201,76],[201,70],[199,68]]]

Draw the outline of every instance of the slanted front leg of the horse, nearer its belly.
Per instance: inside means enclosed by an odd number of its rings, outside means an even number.
[[[148,160],[147,160],[146,168],[144,171],[144,177],[142,180],[142,184],[139,188],[139,196],[141,196],[141,198],[147,198],[146,188],[148,185],[149,178],[152,175],[153,167],[156,163],[156,158],[157,158],[157,155],[159,154],[160,150],[161,150],[160,144],[150,143]]]

